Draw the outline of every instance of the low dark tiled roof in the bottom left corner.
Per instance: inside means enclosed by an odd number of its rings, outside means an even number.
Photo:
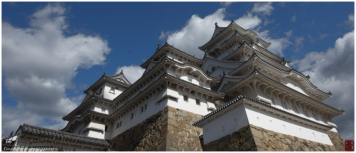
[[[59,140],[63,139],[63,140],[74,141],[74,142],[76,141],[79,143],[91,144],[91,145],[101,146],[101,147],[108,147],[108,148],[111,147],[110,144],[106,142],[104,139],[87,137],[87,136],[77,135],[73,133],[47,129],[44,127],[23,124],[20,125],[20,129],[22,133],[27,133],[36,136],[56,138]]]

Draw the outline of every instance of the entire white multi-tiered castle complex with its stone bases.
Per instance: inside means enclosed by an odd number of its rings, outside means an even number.
[[[204,58],[158,44],[136,82],[122,71],[104,73],[63,116],[66,127],[24,124],[5,143],[48,140],[75,151],[344,151],[332,121],[344,111],[322,102],[331,92],[268,51],[271,45],[234,21],[215,23],[199,47]]]

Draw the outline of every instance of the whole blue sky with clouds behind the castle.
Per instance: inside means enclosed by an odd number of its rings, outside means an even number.
[[[3,135],[23,123],[62,129],[104,72],[135,82],[165,40],[201,57],[214,23],[231,20],[331,91],[323,102],[346,111],[333,120],[354,140],[354,2],[2,2]]]

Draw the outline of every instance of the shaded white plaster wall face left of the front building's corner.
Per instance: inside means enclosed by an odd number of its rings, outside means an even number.
[[[241,127],[248,124],[243,105],[238,105],[234,109],[227,110],[225,114],[216,117],[216,119],[209,120],[209,122],[201,125],[203,127],[204,144],[238,131]]]

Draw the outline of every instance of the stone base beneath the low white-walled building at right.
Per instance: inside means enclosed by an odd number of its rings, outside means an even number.
[[[241,129],[239,129],[238,131],[235,131],[229,135],[221,137],[219,140],[215,140],[206,145],[203,145],[203,151],[344,151],[344,150],[341,150],[338,146],[336,148],[333,145],[327,145],[314,141],[309,141],[299,137],[273,132],[270,130],[263,129],[261,127],[256,127],[252,124],[248,124],[242,127]]]

